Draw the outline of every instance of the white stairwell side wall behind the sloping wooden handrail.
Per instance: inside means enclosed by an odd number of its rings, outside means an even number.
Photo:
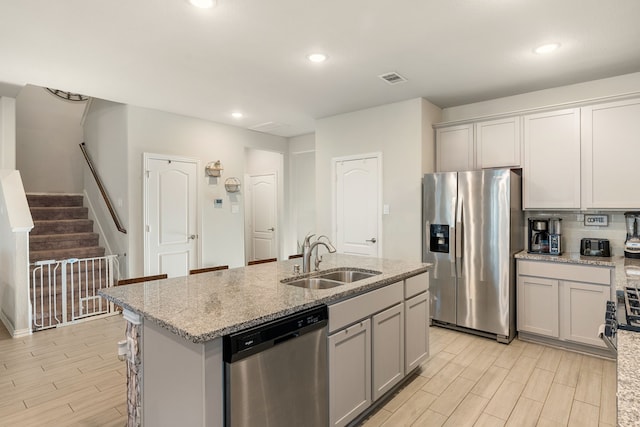
[[[127,169],[127,106],[115,102],[94,99],[84,122],[84,140],[87,152],[113,203],[122,226],[128,234],[116,228],[111,214],[102,198],[98,186],[86,166],[84,158],[83,189],[86,193],[90,218],[94,220],[94,231],[105,238],[100,243],[107,253],[118,254],[120,272],[128,271],[129,257],[129,196]],[[96,228],[97,227],[97,228]],[[126,255],[125,255],[126,254]]]

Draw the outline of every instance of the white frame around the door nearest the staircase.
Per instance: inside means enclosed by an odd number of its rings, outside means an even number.
[[[149,224],[149,181],[146,175],[149,173],[149,161],[155,160],[171,160],[177,162],[194,163],[196,165],[196,230],[198,237],[196,238],[196,262],[198,267],[202,265],[202,215],[200,214],[200,160],[190,157],[173,156],[169,154],[142,153],[142,241],[143,241],[143,260],[144,275],[151,274],[149,271],[149,233],[147,233],[147,224]]]

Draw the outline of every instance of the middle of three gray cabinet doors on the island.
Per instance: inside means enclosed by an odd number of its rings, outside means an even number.
[[[404,303],[372,317],[373,400],[404,378]]]

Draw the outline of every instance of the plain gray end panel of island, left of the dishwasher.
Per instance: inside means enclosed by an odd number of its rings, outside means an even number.
[[[223,427],[222,339],[195,344],[149,320],[143,325],[143,425]]]

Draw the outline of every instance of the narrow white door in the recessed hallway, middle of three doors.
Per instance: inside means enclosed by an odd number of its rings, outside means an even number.
[[[248,261],[277,258],[278,190],[275,173],[249,176],[249,206],[251,250]]]

